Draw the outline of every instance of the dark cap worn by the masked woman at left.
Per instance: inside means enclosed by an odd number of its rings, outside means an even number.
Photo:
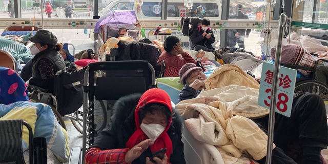
[[[29,37],[33,43],[43,43],[46,45],[56,45],[57,37],[48,30],[38,30],[34,36]]]

